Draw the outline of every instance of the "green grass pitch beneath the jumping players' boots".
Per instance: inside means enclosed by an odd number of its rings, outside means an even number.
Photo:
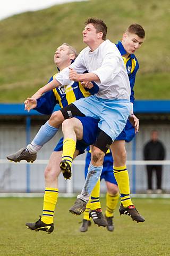
[[[134,199],[146,221],[136,223],[115,212],[115,231],[92,225],[80,233],[82,216],[68,212],[75,198],[59,198],[52,234],[27,230],[38,219],[41,198],[1,198],[0,255],[4,256],[165,256],[169,255],[170,199]],[[105,199],[102,198],[103,209]]]

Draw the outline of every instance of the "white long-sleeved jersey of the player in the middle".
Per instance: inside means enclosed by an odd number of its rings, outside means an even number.
[[[97,97],[130,99],[130,83],[122,55],[108,39],[93,52],[90,47],[84,48],[70,67],[79,74],[87,70],[99,77],[100,82],[96,82],[99,86]],[[62,85],[69,84],[69,68],[63,69],[55,79]]]

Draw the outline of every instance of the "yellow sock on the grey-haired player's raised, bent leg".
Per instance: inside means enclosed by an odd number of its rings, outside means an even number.
[[[62,160],[66,160],[67,162],[69,162],[70,166],[73,162],[75,146],[76,146],[76,142],[71,138],[66,138],[63,141]]]

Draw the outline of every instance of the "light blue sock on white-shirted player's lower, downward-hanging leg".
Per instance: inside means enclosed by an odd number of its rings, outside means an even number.
[[[90,164],[89,171],[86,177],[86,181],[84,183],[84,187],[81,191],[81,195],[78,195],[77,198],[81,198],[84,201],[88,201],[91,195],[92,190],[96,186],[98,179],[100,178],[101,172],[103,170],[103,165],[101,166],[94,166]]]

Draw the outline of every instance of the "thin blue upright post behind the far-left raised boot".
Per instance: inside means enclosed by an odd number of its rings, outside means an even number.
[[[26,117],[26,145],[30,143],[31,117]],[[26,193],[30,193],[30,164],[26,164]]]

